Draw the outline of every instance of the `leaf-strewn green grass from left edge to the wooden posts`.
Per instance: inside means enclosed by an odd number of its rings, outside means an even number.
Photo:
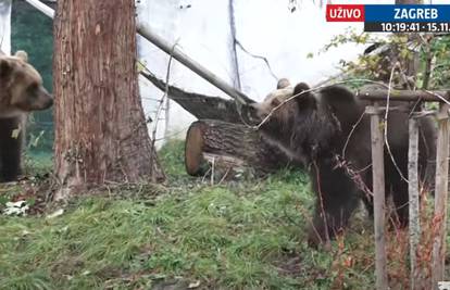
[[[166,188],[78,198],[54,218],[0,216],[0,289],[373,288],[371,224],[357,219],[329,252],[305,244],[303,174],[209,186],[186,176],[180,142],[160,157],[177,180]]]

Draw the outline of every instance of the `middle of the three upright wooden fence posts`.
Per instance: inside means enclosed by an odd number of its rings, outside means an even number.
[[[418,202],[418,126],[417,116],[413,114],[409,119],[410,142],[408,150],[408,191],[410,198],[410,261],[411,261],[411,290],[420,288],[420,277],[416,264],[416,251],[421,237],[420,202]]]

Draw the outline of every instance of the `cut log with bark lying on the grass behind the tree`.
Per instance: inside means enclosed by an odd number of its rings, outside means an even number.
[[[186,171],[203,175],[215,166],[222,172],[251,167],[257,175],[273,173],[298,161],[289,160],[277,147],[267,143],[254,129],[216,119],[192,123],[186,137]],[[217,162],[216,162],[217,161]]]

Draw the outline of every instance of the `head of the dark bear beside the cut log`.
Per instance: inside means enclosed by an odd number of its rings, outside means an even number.
[[[304,83],[275,90],[252,104],[262,121],[260,131],[291,157],[311,160],[328,146],[339,126],[321,99]]]

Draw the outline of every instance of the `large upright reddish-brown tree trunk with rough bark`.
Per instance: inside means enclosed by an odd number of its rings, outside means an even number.
[[[66,192],[164,178],[137,86],[134,0],[61,0],[54,22],[54,172]]]

